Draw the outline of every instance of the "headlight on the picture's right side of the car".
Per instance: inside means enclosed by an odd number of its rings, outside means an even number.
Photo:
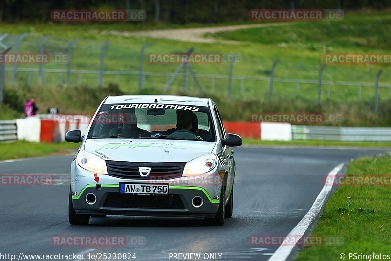
[[[202,175],[213,170],[216,166],[217,156],[215,154],[201,156],[186,163],[182,176]]]

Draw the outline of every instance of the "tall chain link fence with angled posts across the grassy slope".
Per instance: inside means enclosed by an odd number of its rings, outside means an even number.
[[[145,40],[122,43],[29,34],[3,35],[1,44],[11,47],[8,54],[50,56],[48,63],[3,64],[6,86],[42,85],[50,88],[115,83],[129,93],[149,88],[158,92],[214,93],[242,99],[303,98],[314,103],[365,100],[373,102],[375,109],[376,99],[391,97],[390,71],[380,73],[379,66],[323,66],[321,54],[319,63],[309,64],[291,62],[293,58],[300,61],[300,54],[296,54],[298,57],[270,58],[261,50],[254,55],[197,47],[193,53],[218,53],[222,62],[180,64],[153,63],[149,57],[152,54],[184,54],[192,47],[191,44],[184,48],[146,44]]]

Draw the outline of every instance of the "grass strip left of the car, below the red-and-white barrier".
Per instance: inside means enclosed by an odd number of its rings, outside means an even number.
[[[36,143],[17,141],[13,143],[0,143],[0,160],[48,156],[55,152],[69,152],[77,150],[80,144],[63,143]]]

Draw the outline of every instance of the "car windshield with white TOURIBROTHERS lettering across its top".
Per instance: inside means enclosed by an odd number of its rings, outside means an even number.
[[[208,107],[178,104],[104,104],[92,122],[90,139],[140,138],[215,141]]]

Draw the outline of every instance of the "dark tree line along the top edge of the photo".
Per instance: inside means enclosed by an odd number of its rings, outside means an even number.
[[[1,0],[0,22],[46,22],[58,9],[144,9],[147,23],[218,23],[248,20],[249,9],[391,7],[391,0]],[[144,22],[143,22],[144,23]]]

